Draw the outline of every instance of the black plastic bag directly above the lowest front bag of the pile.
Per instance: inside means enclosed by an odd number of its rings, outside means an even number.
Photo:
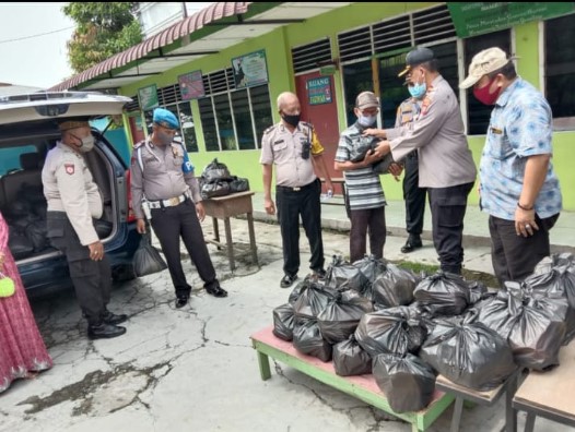
[[[416,352],[427,335],[419,311],[397,307],[366,313],[355,329],[355,339],[372,357],[378,353]]]

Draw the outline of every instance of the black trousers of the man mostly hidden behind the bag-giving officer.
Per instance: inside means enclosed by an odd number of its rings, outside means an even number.
[[[423,232],[423,216],[427,188],[420,188],[418,152],[406,157],[403,175],[403,200],[406,201],[406,230],[415,239]]]

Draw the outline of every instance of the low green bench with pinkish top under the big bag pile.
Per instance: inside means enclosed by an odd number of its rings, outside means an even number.
[[[340,376],[336,374],[333,362],[324,362],[315,357],[298,352],[292,343],[275,337],[273,326],[263,328],[251,335],[251,344],[258,353],[259,371],[262,380],[271,377],[269,357],[288,364],[291,368],[356,397],[378,409],[389,412],[411,423],[412,431],[425,431],[454,401],[448,393],[435,391],[430,405],[416,412],[395,412],[385,394],[379,389],[372,374]]]

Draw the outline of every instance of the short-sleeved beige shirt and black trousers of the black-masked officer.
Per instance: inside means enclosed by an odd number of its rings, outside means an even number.
[[[283,123],[268,128],[261,139],[260,164],[275,166],[275,205],[282,235],[283,272],[295,276],[300,269],[300,216],[309,240],[309,268],[324,269],[321,238],[321,182],[312,158],[324,153],[314,127],[301,121],[294,132]]]

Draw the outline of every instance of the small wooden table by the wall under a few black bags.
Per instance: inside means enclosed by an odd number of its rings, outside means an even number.
[[[258,263],[258,250],[256,247],[256,233],[254,230],[254,206],[251,204],[251,196],[255,192],[237,192],[231,193],[230,195],[212,197],[209,200],[203,200],[203,208],[206,209],[206,215],[210,216],[213,220],[213,232],[214,239],[207,239],[206,241],[213,243],[221,248],[223,244],[220,241],[220,228],[218,226],[218,219],[224,220],[225,227],[225,245],[227,252],[227,260],[230,261],[230,268],[234,271],[235,256],[234,256],[234,242],[232,240],[232,227],[230,225],[230,218],[246,215],[247,226],[249,231],[249,248],[251,250],[251,257],[256,265]]]

